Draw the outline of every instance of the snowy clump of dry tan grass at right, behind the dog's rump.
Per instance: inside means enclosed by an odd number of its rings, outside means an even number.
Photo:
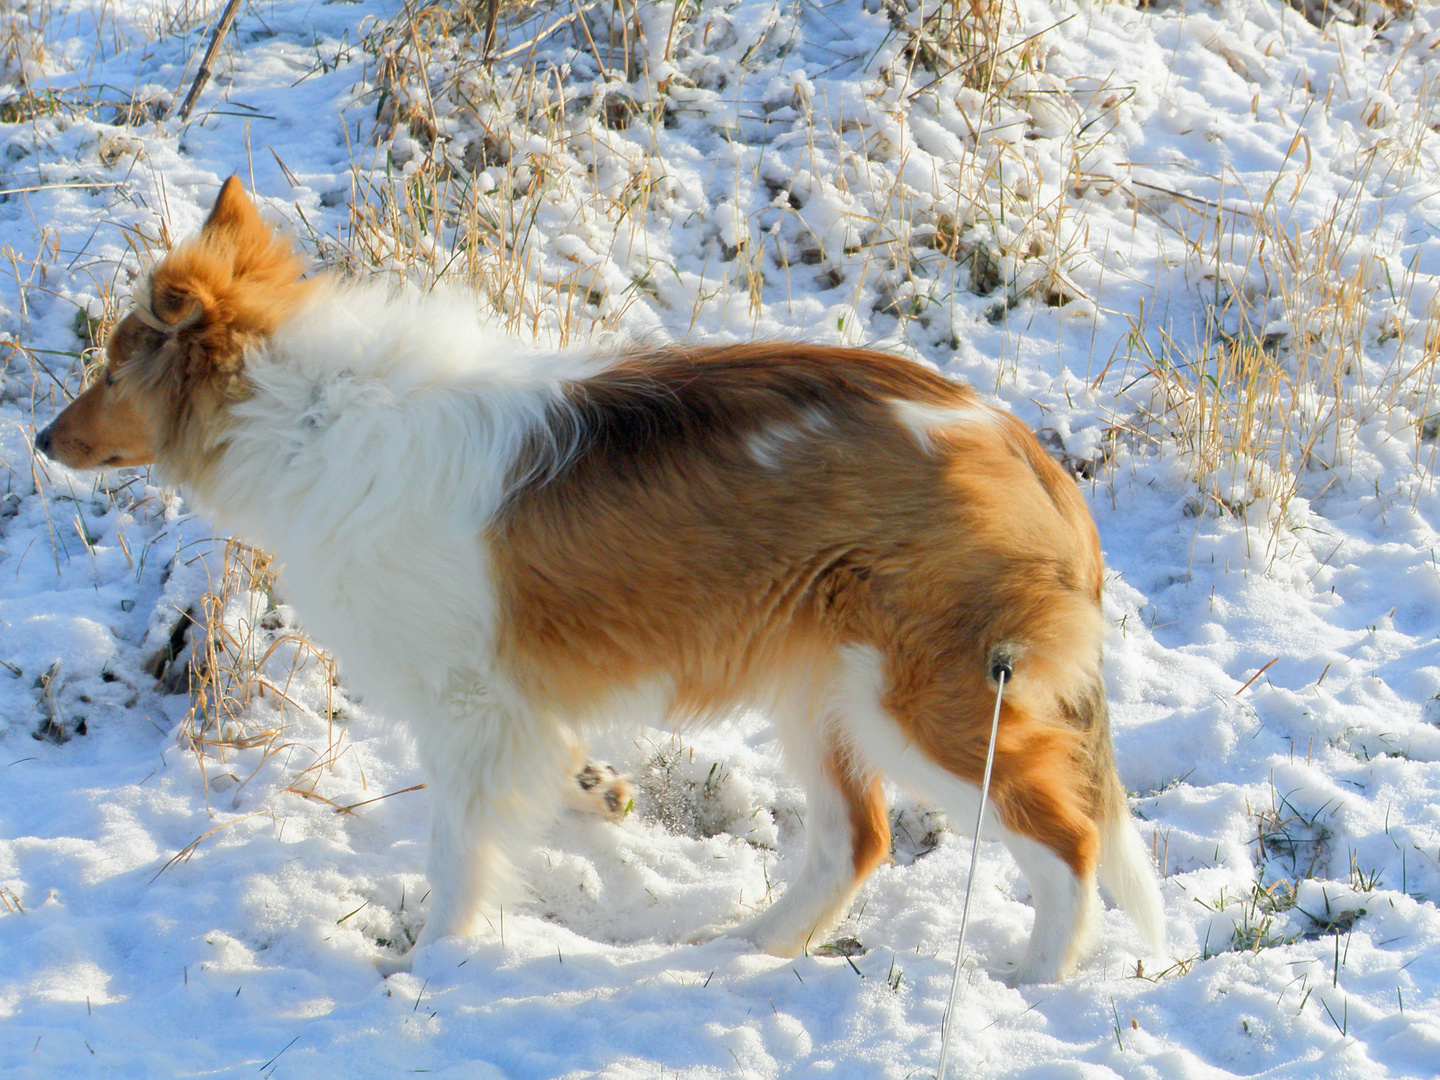
[[[1305,226],[1280,193],[1306,183],[1308,158],[1296,164],[1266,192],[1240,189],[1207,210],[1208,225],[1187,240],[1207,289],[1201,327],[1148,333],[1143,311],[1132,320],[1149,376],[1138,426],[1178,448],[1197,513],[1267,528],[1266,562],[1297,517],[1295,497],[1346,475],[1367,428],[1380,425],[1371,441],[1408,439],[1426,482],[1436,465],[1440,302],[1416,317],[1421,275],[1371,243],[1385,212],[1371,181],[1403,180],[1416,167],[1408,144],[1381,144],[1349,192]]]

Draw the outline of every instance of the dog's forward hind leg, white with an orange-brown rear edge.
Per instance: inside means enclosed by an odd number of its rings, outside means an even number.
[[[783,896],[727,933],[776,956],[819,945],[870,871],[890,857],[878,778],[824,724],[776,716],[786,763],[805,785],[805,861]]]

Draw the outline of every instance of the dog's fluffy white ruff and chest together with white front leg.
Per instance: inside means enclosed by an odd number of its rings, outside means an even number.
[[[609,363],[526,348],[467,298],[336,288],[245,357],[253,396],[194,491],[275,553],[307,631],[409,724],[432,805],[420,943],[477,929],[564,782],[562,732],[495,665],[485,530],[563,383]]]

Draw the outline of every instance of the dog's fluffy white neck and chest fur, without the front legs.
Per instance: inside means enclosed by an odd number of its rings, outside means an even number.
[[[194,494],[278,556],[305,629],[382,708],[492,677],[485,531],[566,359],[369,291],[323,298],[248,357],[252,396]]]

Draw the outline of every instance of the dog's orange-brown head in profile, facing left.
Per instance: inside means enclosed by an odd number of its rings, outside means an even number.
[[[232,176],[200,233],[135,291],[95,380],[36,435],[35,448],[72,468],[158,459],[187,480],[213,452],[226,408],[249,395],[246,350],[308,292],[301,268]]]

